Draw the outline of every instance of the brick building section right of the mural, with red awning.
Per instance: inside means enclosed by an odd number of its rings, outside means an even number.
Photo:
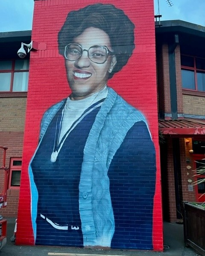
[[[205,184],[192,185],[205,155],[204,42],[205,27],[156,23],[163,216],[171,222],[182,219],[182,201],[205,201]]]

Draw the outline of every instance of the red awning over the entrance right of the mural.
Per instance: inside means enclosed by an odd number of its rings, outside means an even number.
[[[172,135],[202,135],[205,134],[205,119],[158,120],[159,130]]]

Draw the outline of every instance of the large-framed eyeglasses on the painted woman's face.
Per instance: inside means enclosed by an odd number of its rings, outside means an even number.
[[[81,56],[83,51],[87,51],[88,58],[98,64],[105,63],[108,58],[108,55],[112,55],[113,52],[110,51],[107,46],[105,45],[93,45],[88,50],[83,49],[78,44],[68,44],[65,47],[64,56],[67,60],[75,61],[78,60]]]

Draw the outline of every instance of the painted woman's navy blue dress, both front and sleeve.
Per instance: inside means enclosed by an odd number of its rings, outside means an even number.
[[[62,108],[64,105],[53,117],[32,161],[38,190],[35,244],[82,247],[79,180],[85,143],[100,107],[70,132],[52,163],[50,157],[56,131],[60,129]],[[111,248],[152,249],[155,169],[155,148],[149,131],[143,121],[137,122],[108,169],[115,224]]]

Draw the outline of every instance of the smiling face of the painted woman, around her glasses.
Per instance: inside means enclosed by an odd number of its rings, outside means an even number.
[[[81,35],[73,39],[73,43],[86,50],[93,45],[105,45],[112,51],[108,34],[99,28],[89,27],[85,29]],[[105,63],[94,63],[88,58],[87,51],[83,51],[78,60],[65,59],[67,80],[72,90],[70,98],[73,100],[84,99],[101,90],[107,83],[109,72],[115,64],[116,57],[114,55],[108,55]]]

